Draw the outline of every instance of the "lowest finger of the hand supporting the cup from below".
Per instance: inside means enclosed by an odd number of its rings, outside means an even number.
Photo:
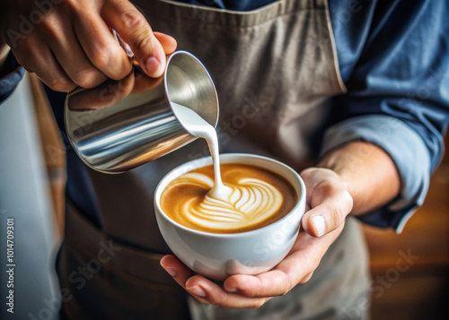
[[[186,290],[194,297],[206,300],[208,303],[220,307],[260,307],[269,298],[249,298],[236,293],[223,290],[213,281],[195,275],[186,282]]]

